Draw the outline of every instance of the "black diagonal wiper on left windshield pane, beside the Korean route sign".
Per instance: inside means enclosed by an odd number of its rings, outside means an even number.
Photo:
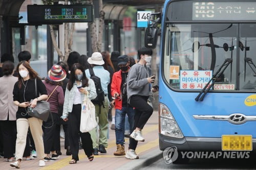
[[[212,76],[212,78],[208,81],[208,83],[204,86],[204,88],[200,91],[200,93],[197,95],[196,97],[196,101],[200,100],[203,101],[204,100],[204,96],[206,95],[206,93],[209,92],[210,88],[214,85],[214,83],[216,82],[216,80],[223,74],[223,72],[225,71],[225,69],[228,67],[228,65],[232,62],[231,58],[227,58],[225,59],[225,61],[223,62],[223,64],[221,65],[221,67],[216,71],[215,75]],[[223,68],[224,67],[224,68]],[[223,68],[223,69],[222,69]],[[222,70],[221,70],[222,69]],[[214,81],[212,81],[214,80]],[[210,82],[212,81],[212,83],[210,84]],[[210,84],[210,86],[208,87],[208,85]],[[207,88],[208,87],[208,88]],[[206,89],[207,88],[207,89]],[[203,93],[203,95],[201,96],[201,94]],[[201,98],[200,98],[201,96]],[[200,98],[200,99],[199,99]]]

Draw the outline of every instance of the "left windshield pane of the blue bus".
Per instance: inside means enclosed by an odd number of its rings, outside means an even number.
[[[237,35],[238,24],[168,23],[163,59],[166,81],[175,89],[200,90],[200,87],[193,88],[193,86],[181,88],[180,70],[212,70],[212,75],[214,75],[225,59],[231,58],[232,63],[219,76],[215,84],[222,84],[232,87],[229,90],[236,90],[238,81],[236,80]],[[203,85],[206,83],[204,82]]]

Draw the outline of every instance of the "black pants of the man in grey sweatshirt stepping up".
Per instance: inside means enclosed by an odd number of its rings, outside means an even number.
[[[153,108],[147,104],[147,96],[133,95],[131,97],[130,104],[132,107],[135,108],[133,130],[135,130],[136,128],[143,129],[147,120],[153,113]],[[129,149],[135,150],[137,144],[137,140],[130,140]]]

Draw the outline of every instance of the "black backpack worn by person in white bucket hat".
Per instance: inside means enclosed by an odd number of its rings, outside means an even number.
[[[105,94],[101,87],[100,78],[95,76],[92,68],[89,68],[89,71],[90,71],[91,79],[94,81],[96,93],[97,93],[97,97],[94,100],[92,100],[92,103],[97,104],[99,106],[101,105],[104,106],[103,102],[104,102]]]

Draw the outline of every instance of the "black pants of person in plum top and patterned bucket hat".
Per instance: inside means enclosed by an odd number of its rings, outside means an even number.
[[[53,120],[52,120],[53,117]],[[49,115],[47,122],[43,123],[42,130],[44,131],[44,147],[45,147],[45,154],[50,154],[51,151],[56,151],[55,149],[55,143],[56,141],[56,135],[57,135],[57,130],[56,130],[56,122],[59,118],[58,113],[52,113]],[[53,122],[52,122],[53,121]],[[50,127],[50,128],[49,128]]]

